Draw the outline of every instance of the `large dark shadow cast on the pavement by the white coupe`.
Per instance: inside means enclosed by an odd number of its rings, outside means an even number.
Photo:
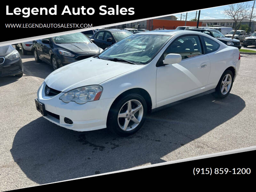
[[[182,158],[189,157],[191,150],[214,153],[218,149],[210,141],[189,143],[233,118],[244,107],[244,100],[234,94],[221,100],[205,95],[149,115],[141,130],[129,137],[113,135],[107,129],[75,132],[40,117],[16,133],[11,154],[29,179],[44,184],[161,163],[164,156],[180,147],[188,153],[181,154]],[[220,142],[214,138],[222,135],[212,137],[209,140]]]

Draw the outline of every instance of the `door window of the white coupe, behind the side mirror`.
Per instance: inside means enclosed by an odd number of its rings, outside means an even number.
[[[156,66],[163,64],[164,58],[170,53],[178,53],[181,60],[202,55],[202,47],[198,36],[182,36],[174,40],[161,55]]]

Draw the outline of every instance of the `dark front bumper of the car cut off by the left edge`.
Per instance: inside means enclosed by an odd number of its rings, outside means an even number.
[[[23,64],[21,58],[14,60],[5,59],[4,63],[0,64],[0,77],[12,76],[23,73]]]

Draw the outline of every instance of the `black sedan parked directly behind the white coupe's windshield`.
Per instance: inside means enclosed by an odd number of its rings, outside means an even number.
[[[115,44],[116,42],[130,35],[133,35],[133,33],[126,30],[120,30],[120,29],[100,30],[91,37],[91,40],[98,47],[104,50],[110,45]]]

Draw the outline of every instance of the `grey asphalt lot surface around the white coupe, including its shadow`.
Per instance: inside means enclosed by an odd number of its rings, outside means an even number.
[[[0,191],[255,146],[256,55],[241,56],[227,98],[210,94],[158,111],[119,137],[44,119],[34,99],[52,67],[22,55],[24,75],[0,77]]]

